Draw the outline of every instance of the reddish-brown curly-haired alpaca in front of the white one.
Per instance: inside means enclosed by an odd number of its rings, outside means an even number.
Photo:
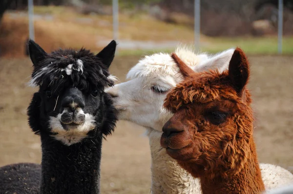
[[[263,192],[244,52],[237,48],[223,73],[195,73],[176,54],[172,58],[185,80],[165,99],[174,116],[163,127],[162,147],[200,178],[203,194]]]

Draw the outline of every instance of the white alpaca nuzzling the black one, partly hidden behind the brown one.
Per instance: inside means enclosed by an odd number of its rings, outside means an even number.
[[[214,56],[194,54],[177,48],[175,53],[194,71],[228,68],[234,49]],[[168,91],[182,78],[169,54],[159,53],[141,59],[127,74],[124,83],[106,90],[119,110],[119,119],[129,120],[147,130],[151,151],[151,192],[153,194],[201,194],[199,180],[193,178],[167,155],[160,145],[163,125],[172,116],[163,108]],[[266,189],[293,183],[293,175],[271,164],[260,164]]]

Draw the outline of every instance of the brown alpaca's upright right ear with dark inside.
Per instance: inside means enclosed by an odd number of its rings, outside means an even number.
[[[229,78],[237,94],[242,97],[250,74],[249,63],[245,53],[236,48],[229,63]]]

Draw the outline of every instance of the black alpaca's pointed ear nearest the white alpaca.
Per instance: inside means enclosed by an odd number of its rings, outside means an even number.
[[[114,59],[116,51],[116,41],[112,40],[100,53],[96,55],[97,58],[100,58],[102,63],[109,68],[111,62]]]

